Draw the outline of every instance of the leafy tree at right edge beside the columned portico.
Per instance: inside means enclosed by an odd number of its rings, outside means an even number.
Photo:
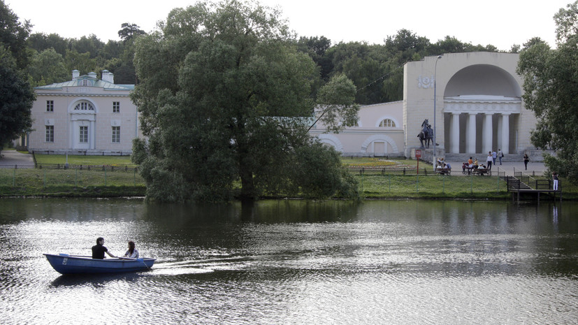
[[[578,2],[578,1],[577,1]],[[546,154],[544,163],[551,171],[572,182],[578,182],[578,34],[576,34],[577,3],[561,11],[556,20],[558,48],[538,39],[524,44],[517,72],[523,76],[523,101],[537,117],[530,140],[540,149],[556,151]],[[561,23],[563,22],[563,23]]]

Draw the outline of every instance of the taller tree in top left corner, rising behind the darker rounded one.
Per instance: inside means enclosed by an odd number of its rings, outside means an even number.
[[[26,39],[31,28],[28,20],[20,22],[18,16],[0,0],[0,44],[10,51],[20,69],[26,68],[28,64]]]

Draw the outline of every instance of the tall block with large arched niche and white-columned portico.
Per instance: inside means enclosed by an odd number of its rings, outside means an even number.
[[[421,147],[415,135],[421,122],[434,120],[434,114],[438,157],[498,149],[520,154],[532,149],[530,130],[536,119],[523,106],[517,63],[514,53],[468,52],[405,64],[405,156],[412,157],[412,150]],[[433,85],[437,85],[436,94]]]

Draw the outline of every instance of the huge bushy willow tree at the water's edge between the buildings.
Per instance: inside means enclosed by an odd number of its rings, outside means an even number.
[[[356,195],[338,153],[308,136],[319,70],[295,43],[279,11],[245,1],[174,9],[138,39],[131,98],[147,140],[135,141],[133,161],[148,198]],[[324,118],[350,124],[353,83],[333,78],[321,93],[332,89]]]

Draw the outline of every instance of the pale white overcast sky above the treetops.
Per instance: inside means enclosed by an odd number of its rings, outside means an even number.
[[[121,24],[137,24],[150,32],[173,8],[195,0],[4,0],[34,25],[33,33],[64,38],[96,35],[103,42],[119,41]],[[387,36],[408,29],[431,43],[454,36],[463,43],[494,45],[510,50],[540,37],[555,47],[554,14],[574,0],[260,0],[279,6],[298,36],[325,36],[333,43],[365,41],[383,44]]]

